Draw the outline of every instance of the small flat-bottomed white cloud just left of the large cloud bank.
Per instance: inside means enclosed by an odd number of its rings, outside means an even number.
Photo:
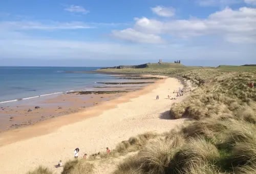
[[[132,42],[163,43],[163,40],[160,36],[138,32],[131,28],[121,31],[112,31],[112,35],[116,38]]]

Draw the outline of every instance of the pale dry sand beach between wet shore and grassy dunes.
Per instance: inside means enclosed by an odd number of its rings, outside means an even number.
[[[65,163],[73,159],[76,147],[81,158],[83,153],[105,151],[107,146],[113,149],[118,142],[137,134],[169,131],[183,122],[168,119],[172,103],[182,101],[184,96],[173,101],[167,100],[167,95],[173,97],[179,87],[182,85],[177,79],[167,78],[91,110],[1,134],[0,173],[26,173],[38,165],[60,173],[62,168],[54,165],[59,160]]]

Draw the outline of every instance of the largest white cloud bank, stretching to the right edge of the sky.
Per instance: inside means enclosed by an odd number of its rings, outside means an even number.
[[[226,8],[210,14],[206,19],[160,21],[142,17],[136,18],[135,21],[134,30],[144,34],[169,34],[182,38],[219,36],[232,42],[234,40],[236,42],[256,40],[256,8],[243,7],[238,10]],[[127,33],[120,34],[123,36],[119,36],[119,38],[126,38]],[[236,39],[231,39],[232,37]]]

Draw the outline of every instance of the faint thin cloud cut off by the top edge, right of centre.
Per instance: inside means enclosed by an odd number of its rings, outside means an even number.
[[[200,6],[204,6],[204,7],[207,7],[207,6],[226,7],[226,6],[233,5],[233,4],[239,4],[239,3],[241,3],[241,0],[197,0],[197,3]]]

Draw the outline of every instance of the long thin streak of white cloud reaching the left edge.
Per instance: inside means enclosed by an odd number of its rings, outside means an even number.
[[[38,21],[0,21],[0,28],[3,30],[76,30],[94,28],[87,23],[72,22],[56,22],[51,21],[47,24]]]

